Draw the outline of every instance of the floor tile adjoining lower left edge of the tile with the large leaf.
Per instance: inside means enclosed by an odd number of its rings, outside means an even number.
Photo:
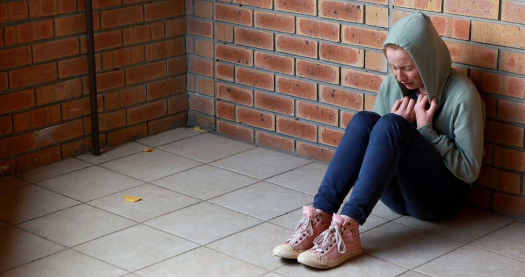
[[[81,204],[24,222],[18,227],[48,240],[74,247],[136,222]]]

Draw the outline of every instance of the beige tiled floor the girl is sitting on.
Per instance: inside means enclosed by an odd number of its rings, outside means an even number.
[[[381,203],[361,227],[365,254],[311,269],[271,250],[312,203],[326,165],[192,129],[102,153],[0,179],[0,276],[525,272],[525,222],[471,207],[425,222]]]

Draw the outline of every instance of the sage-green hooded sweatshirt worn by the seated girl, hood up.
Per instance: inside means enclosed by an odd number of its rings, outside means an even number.
[[[445,42],[423,13],[414,13],[394,24],[383,47],[387,44],[408,52],[421,75],[429,102],[434,97],[437,100],[432,123],[418,128],[419,133],[434,145],[451,173],[471,184],[479,175],[484,152],[485,103],[478,90],[467,76],[451,68]],[[394,74],[388,74],[379,88],[374,112],[389,113],[396,100],[411,94]]]

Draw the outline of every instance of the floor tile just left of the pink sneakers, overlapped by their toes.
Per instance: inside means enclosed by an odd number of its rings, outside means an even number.
[[[291,262],[289,259],[281,259],[272,254],[274,247],[285,242],[289,236],[290,230],[284,227],[262,223],[210,243],[207,247],[259,267],[274,270]]]

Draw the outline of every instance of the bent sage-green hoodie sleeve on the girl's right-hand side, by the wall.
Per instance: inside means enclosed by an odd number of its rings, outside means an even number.
[[[483,155],[485,105],[475,88],[470,88],[454,107],[454,140],[438,134],[433,123],[422,126],[418,131],[434,145],[442,156],[447,168],[463,182],[471,184],[481,168]]]

